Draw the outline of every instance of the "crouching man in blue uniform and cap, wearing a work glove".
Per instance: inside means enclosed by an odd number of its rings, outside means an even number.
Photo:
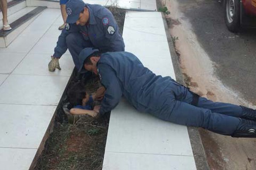
[[[67,25],[58,37],[49,71],[61,69],[58,59],[67,51],[79,69],[79,53],[86,47],[101,51],[124,51],[125,44],[113,14],[100,5],[90,5],[83,0],[69,0],[66,3]]]

